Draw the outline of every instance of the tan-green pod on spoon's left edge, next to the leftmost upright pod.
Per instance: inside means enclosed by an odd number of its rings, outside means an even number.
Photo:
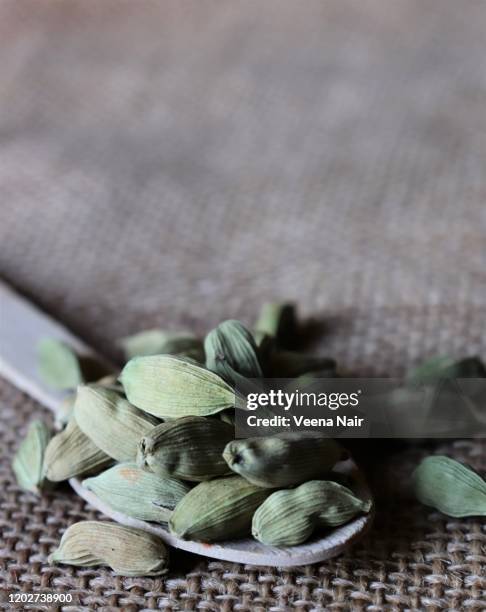
[[[51,438],[44,454],[44,474],[52,482],[104,470],[113,459],[100,450],[71,417],[66,428]]]

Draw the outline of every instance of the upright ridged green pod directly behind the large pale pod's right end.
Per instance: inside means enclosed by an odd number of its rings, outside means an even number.
[[[239,321],[223,321],[204,340],[206,366],[230,384],[241,377],[261,378],[258,349],[252,334]]]

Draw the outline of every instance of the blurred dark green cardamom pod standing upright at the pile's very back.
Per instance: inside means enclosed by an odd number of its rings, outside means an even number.
[[[255,323],[253,335],[258,345],[264,336],[270,336],[275,338],[278,346],[290,348],[297,335],[295,306],[280,302],[264,304]]]

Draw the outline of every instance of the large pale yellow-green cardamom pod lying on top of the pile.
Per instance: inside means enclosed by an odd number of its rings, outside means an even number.
[[[120,380],[134,406],[160,418],[207,416],[235,405],[233,389],[220,376],[182,357],[135,357]]]

